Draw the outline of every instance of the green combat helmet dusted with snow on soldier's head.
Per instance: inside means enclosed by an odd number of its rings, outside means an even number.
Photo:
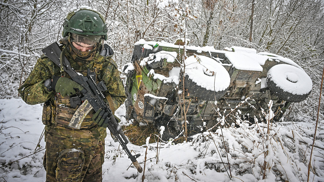
[[[107,40],[107,24],[105,18],[97,11],[81,8],[78,11],[71,11],[63,23],[63,37],[68,32],[79,35],[104,36]]]

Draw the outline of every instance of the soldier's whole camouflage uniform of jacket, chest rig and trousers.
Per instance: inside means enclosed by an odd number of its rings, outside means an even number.
[[[69,51],[67,51],[69,52]],[[113,104],[110,108],[117,109],[125,101],[125,91],[116,63],[108,56],[97,53],[93,60],[87,61],[81,66],[75,62],[70,54],[66,54],[74,70],[86,74],[86,70],[96,71],[97,81],[103,81],[107,87],[105,95],[109,96]],[[27,104],[44,103],[42,122],[45,124],[46,153],[44,167],[47,171],[47,181],[60,181],[60,178],[69,178],[68,181],[101,181],[101,166],[104,156],[104,138],[106,128],[98,127],[92,121],[94,111],[84,119],[81,129],[72,129],[68,126],[76,108],[71,108],[69,97],[62,97],[59,93],[48,91],[44,82],[53,76],[61,76],[60,68],[46,56],[42,55],[30,73],[24,84],[18,89],[22,99]],[[65,77],[69,76],[65,73]],[[110,97],[111,96],[111,97]],[[107,97],[108,98],[108,97]],[[108,101],[107,101],[108,103]],[[58,157],[65,149],[73,149],[74,152],[61,154],[63,161]],[[75,152],[81,151],[81,152]],[[66,151],[65,151],[66,152]],[[84,153],[84,163],[81,175],[80,161]],[[70,160],[66,160],[70,158]],[[69,173],[73,168],[75,172]],[[60,171],[61,170],[61,171]],[[62,174],[62,171],[63,172]]]

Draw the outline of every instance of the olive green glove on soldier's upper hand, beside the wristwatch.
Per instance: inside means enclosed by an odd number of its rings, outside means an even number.
[[[52,88],[55,89],[57,93],[60,93],[63,97],[70,96],[76,93],[77,89],[79,91],[84,90],[84,88],[77,84],[75,81],[65,78],[65,77],[53,77]],[[87,92],[86,90],[82,91]]]

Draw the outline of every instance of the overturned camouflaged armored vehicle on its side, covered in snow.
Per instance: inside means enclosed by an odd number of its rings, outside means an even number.
[[[124,66],[126,118],[164,126],[163,140],[181,136],[184,121],[192,135],[220,121],[230,126],[237,117],[255,122],[270,106],[275,115],[268,119],[279,121],[311,92],[310,77],[291,59],[251,48],[195,46],[186,46],[184,59],[181,43],[142,39]]]

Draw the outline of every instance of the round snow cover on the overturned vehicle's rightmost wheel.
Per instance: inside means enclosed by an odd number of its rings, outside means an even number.
[[[273,66],[267,78],[284,91],[296,95],[307,94],[313,87],[312,80],[304,70],[288,64]]]

